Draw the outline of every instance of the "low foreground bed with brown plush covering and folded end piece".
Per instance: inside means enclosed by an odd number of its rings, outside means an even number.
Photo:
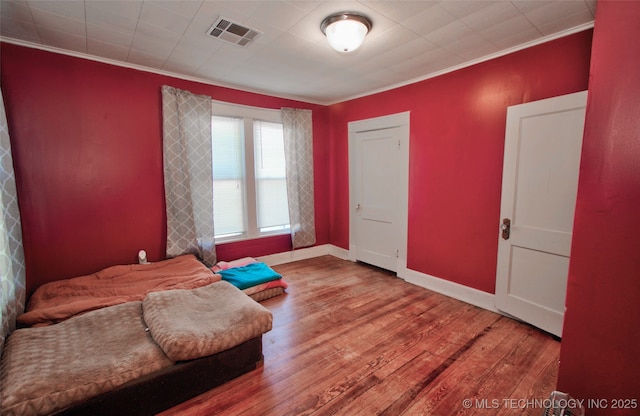
[[[203,361],[217,363],[215,380],[224,380],[255,366],[251,360],[259,346],[252,340],[261,339],[271,326],[271,312],[221,281],[196,289],[151,292],[143,301],[90,311],[55,325],[19,329],[8,337],[0,361],[0,415],[66,412],[134,383],[133,389],[124,389],[125,397],[130,397],[131,392],[145,391],[146,377],[162,376],[176,364],[184,367],[182,363],[218,354],[232,360],[242,357],[240,362]],[[248,347],[237,348],[247,343]],[[227,353],[231,350],[238,352]],[[199,371],[198,365],[187,368]],[[185,371],[177,374],[180,379],[187,376]],[[189,391],[199,391],[198,386],[194,389]],[[153,396],[153,391],[146,391]]]

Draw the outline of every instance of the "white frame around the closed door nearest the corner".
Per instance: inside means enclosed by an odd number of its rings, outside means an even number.
[[[408,217],[409,217],[409,146],[410,146],[410,112],[390,114],[381,117],[375,117],[364,120],[351,121],[348,123],[349,132],[349,260],[357,261],[356,258],[356,195],[355,195],[355,149],[356,136],[358,133],[385,130],[394,127],[406,127],[405,137],[401,137],[402,150],[400,155],[401,174],[400,174],[400,190],[398,198],[398,234],[399,247],[396,263],[396,273],[407,267],[407,233],[408,233]]]

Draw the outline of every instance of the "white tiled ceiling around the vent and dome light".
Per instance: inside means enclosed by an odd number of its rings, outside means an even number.
[[[596,0],[0,0],[2,40],[320,104],[404,85],[593,25]],[[335,12],[373,21],[351,54],[320,31]],[[206,35],[220,16],[262,32]]]

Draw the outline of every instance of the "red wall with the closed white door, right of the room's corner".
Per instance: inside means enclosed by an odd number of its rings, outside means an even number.
[[[349,121],[411,112],[408,267],[495,292],[507,106],[587,89],[591,31],[329,109],[330,240],[349,247]]]

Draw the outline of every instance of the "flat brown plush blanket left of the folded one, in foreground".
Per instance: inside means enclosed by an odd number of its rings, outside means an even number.
[[[0,415],[50,414],[171,365],[139,301],[18,329],[0,362]]]

